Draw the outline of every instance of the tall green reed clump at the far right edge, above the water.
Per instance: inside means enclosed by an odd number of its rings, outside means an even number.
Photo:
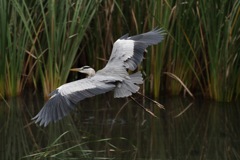
[[[201,1],[198,5],[206,92],[218,101],[239,97],[240,2]]]

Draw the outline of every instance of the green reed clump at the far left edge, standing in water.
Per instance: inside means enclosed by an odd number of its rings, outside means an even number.
[[[24,17],[25,3],[1,1],[0,29],[0,94],[15,96],[24,85],[23,73],[26,49],[31,44],[29,21]]]

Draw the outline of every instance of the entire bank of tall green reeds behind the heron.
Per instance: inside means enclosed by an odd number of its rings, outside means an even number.
[[[239,98],[238,0],[26,2],[0,2],[1,97],[29,85],[41,87],[46,96],[66,82],[73,65],[102,68],[123,34],[163,27],[165,40],[148,48],[140,68],[144,93],[182,94],[185,87],[162,74],[168,72],[194,94],[218,101]]]

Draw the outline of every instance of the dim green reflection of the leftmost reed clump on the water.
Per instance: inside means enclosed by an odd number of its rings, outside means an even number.
[[[1,102],[1,159],[19,159],[30,153],[30,139],[24,129],[24,108],[25,104],[21,98],[11,98]]]

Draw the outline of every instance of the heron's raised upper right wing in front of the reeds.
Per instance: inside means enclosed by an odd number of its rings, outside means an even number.
[[[164,39],[162,29],[128,37],[124,35],[113,45],[112,53],[106,67],[123,64],[125,68],[135,70],[143,59],[143,52],[150,46]]]

